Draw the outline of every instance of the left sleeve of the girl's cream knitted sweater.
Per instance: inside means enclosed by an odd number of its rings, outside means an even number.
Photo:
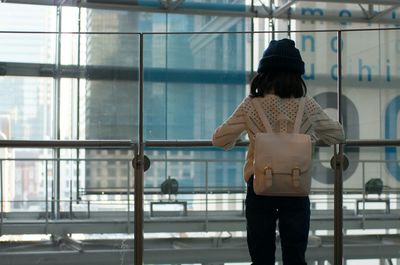
[[[246,117],[243,111],[243,102],[233,114],[224,121],[212,136],[212,144],[226,149],[235,146],[236,140],[246,130]]]

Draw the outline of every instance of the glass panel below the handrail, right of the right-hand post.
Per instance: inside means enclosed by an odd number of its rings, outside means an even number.
[[[385,243],[398,238],[400,229],[395,221],[400,205],[399,179],[398,174],[390,170],[398,167],[399,160],[385,159],[392,148],[362,147],[360,158],[349,161],[357,167],[344,182],[344,254],[349,264],[357,264],[356,259],[362,256],[368,259],[368,264],[377,265],[396,264],[398,259],[398,245]],[[355,255],[360,245],[365,252]],[[376,245],[385,245],[385,253],[377,250]]]

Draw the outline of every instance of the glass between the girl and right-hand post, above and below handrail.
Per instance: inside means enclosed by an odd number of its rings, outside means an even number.
[[[297,25],[301,28],[301,25]],[[303,79],[307,95],[313,97],[328,115],[336,120],[336,52],[335,32],[298,32],[293,34],[296,46],[305,62]],[[334,230],[334,176],[330,160],[332,147],[317,147],[314,153],[312,180],[311,223],[307,255],[310,262],[333,264],[333,248],[327,254],[318,255],[318,245],[328,245],[333,240]],[[331,257],[331,258],[330,258]],[[330,262],[330,263],[328,263]]]

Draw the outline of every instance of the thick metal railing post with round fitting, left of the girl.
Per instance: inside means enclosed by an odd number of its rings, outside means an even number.
[[[139,141],[135,150],[135,265],[143,264],[143,33],[139,34],[140,37],[140,65],[139,65]]]

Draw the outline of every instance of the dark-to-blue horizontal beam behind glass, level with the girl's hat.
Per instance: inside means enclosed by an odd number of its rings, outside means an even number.
[[[292,16],[292,15],[291,15]],[[380,18],[382,20],[382,18]],[[364,18],[364,22],[365,22]],[[392,21],[395,23],[396,21]],[[389,23],[389,21],[388,21]],[[400,19],[398,20],[400,24]],[[397,29],[368,29],[371,32],[389,32],[389,34],[395,33]],[[363,32],[367,29],[359,30],[343,30],[342,32]],[[278,32],[278,31],[277,31]],[[324,32],[334,33],[334,30],[326,31],[293,31],[299,32],[299,34],[310,34],[318,36],[318,34],[324,34]],[[4,33],[4,32],[3,32]],[[224,32],[220,34],[243,34],[248,35],[250,32],[235,32],[228,33]],[[268,32],[265,32],[267,34]],[[2,34],[0,32],[0,34]],[[20,34],[14,32],[13,34]],[[65,33],[70,34],[70,33]],[[158,35],[157,33],[155,33]],[[166,33],[161,33],[166,34]],[[178,36],[181,33],[167,33],[169,35]],[[202,32],[202,33],[184,33],[193,34],[197,38],[210,38],[210,35],[217,36],[216,32]],[[258,32],[257,34],[261,34]],[[123,34],[121,34],[123,35]],[[16,62],[0,62],[0,75],[6,77],[12,76],[33,76],[39,78],[54,78],[60,76],[62,78],[80,78],[87,80],[104,80],[104,81],[138,81],[139,68],[135,66],[95,66],[95,65],[61,65],[58,69],[55,68],[54,64],[41,64],[41,63],[16,63]],[[234,70],[219,70],[219,69],[184,69],[184,68],[161,68],[161,67],[146,67],[144,70],[144,79],[150,82],[174,82],[174,83],[192,83],[192,84],[235,84],[243,86],[246,83],[246,78],[252,76],[253,73],[250,71],[234,71]],[[359,80],[355,74],[346,75],[348,80],[347,88],[356,88]],[[382,75],[373,74],[371,75],[371,82],[363,84],[365,88],[376,88],[381,85],[384,80]],[[315,80],[308,80],[312,82],[315,87],[326,85],[327,82],[334,81],[330,74],[318,74],[318,78]],[[387,89],[397,89],[400,77],[392,76],[391,82],[385,83]],[[211,144],[209,145],[211,146]]]

